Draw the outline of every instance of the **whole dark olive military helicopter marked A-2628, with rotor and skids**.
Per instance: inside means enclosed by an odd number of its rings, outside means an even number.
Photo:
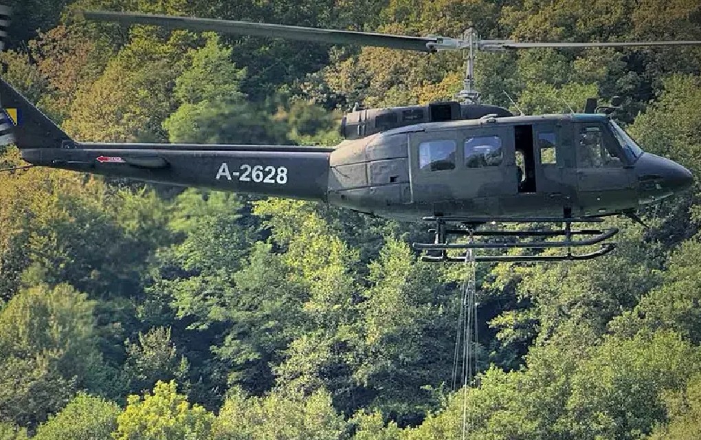
[[[435,53],[465,53],[463,102],[346,114],[336,148],[280,145],[185,145],[76,142],[6,81],[1,105],[22,158],[30,166],[170,185],[322,201],[381,218],[430,222],[433,243],[415,243],[427,261],[464,261],[469,250],[531,250],[531,255],[477,255],[476,261],[587,260],[613,251],[618,229],[573,229],[627,215],[690,187],[683,166],[643,150],[608,117],[613,107],[587,101],[583,114],[514,116],[479,104],[473,65],[477,51],[699,45],[701,41],[519,43],[400,36],[265,23],[142,13],[85,12],[90,20],[160,25],[195,31],[361,44]],[[615,101],[615,100],[614,100]],[[612,102],[618,105],[620,102]],[[6,112],[7,114],[7,112]],[[0,127],[0,130],[2,127]],[[0,131],[0,135],[3,132]],[[492,225],[561,225],[559,229],[498,229]],[[489,227],[481,227],[488,225]],[[458,236],[470,236],[456,242]],[[483,237],[475,241],[474,237]],[[555,240],[559,238],[559,240]],[[504,241],[504,239],[508,239]],[[573,248],[597,246],[573,253]],[[559,255],[540,252],[562,248]],[[451,255],[450,250],[465,251]],[[471,253],[471,251],[470,251]]]

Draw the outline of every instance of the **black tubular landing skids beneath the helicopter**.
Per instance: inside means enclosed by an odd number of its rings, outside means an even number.
[[[565,213],[567,214],[567,213]],[[618,228],[606,229],[572,229],[573,223],[601,223],[602,218],[574,218],[564,215],[562,218],[541,217],[541,218],[461,218],[461,217],[424,217],[424,221],[432,222],[435,226],[429,229],[434,234],[433,243],[414,243],[412,246],[416,251],[422,251],[421,260],[428,262],[464,262],[465,254],[461,256],[448,255],[451,250],[468,249],[551,249],[563,248],[565,253],[559,255],[475,255],[475,261],[484,262],[548,262],[548,261],[578,261],[591,260],[592,258],[606,255],[615,249],[615,243],[604,243],[618,233]],[[553,223],[564,224],[562,229],[554,231],[508,231],[508,230],[477,230],[479,225],[486,223]],[[448,239],[456,236],[468,236],[468,243],[448,243]],[[524,241],[526,238],[547,239],[553,237],[564,237],[561,241]],[[573,237],[580,236],[580,239]],[[511,237],[517,239],[510,243],[479,240],[475,237]],[[572,253],[572,248],[583,246],[594,246],[600,244],[597,251],[589,253]]]

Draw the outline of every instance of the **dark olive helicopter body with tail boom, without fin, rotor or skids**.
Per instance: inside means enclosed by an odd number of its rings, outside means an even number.
[[[22,155],[53,168],[319,200],[397,220],[610,215],[690,184],[685,168],[630,152],[614,131],[599,115],[514,116],[395,128],[335,149],[62,140]]]

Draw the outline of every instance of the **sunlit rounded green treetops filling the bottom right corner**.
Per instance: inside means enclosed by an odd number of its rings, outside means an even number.
[[[533,347],[528,368],[490,368],[468,390],[468,439],[641,438],[665,420],[663,392],[684,385],[699,354],[672,332],[606,338],[591,349]],[[407,439],[460,439],[462,391],[444,405]]]

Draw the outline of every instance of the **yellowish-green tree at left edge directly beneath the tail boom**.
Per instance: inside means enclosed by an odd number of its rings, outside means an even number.
[[[170,241],[163,201],[151,191],[68,171],[4,173],[0,182],[5,299],[22,282],[67,282],[91,298],[135,295],[144,260]]]

